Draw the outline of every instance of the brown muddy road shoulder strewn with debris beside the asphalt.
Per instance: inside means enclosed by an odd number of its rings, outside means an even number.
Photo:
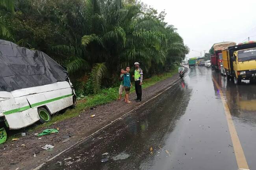
[[[160,91],[166,89],[179,79],[178,74],[171,78],[160,81],[155,85],[143,89],[143,101],[155,96]],[[130,95],[130,99],[135,98],[135,93]],[[143,102],[142,101],[142,102]],[[0,169],[16,170],[17,168],[30,170],[40,165],[44,161],[55,156],[59,152],[69,148],[81,139],[89,136],[96,130],[104,127],[119,118],[123,114],[129,112],[135,107],[141,105],[142,102],[126,104],[124,101],[113,101],[106,105],[101,105],[93,109],[85,110],[79,116],[56,122],[48,128],[59,128],[59,133],[42,136],[42,139],[35,136],[44,129],[30,132],[25,137],[20,137],[17,141],[10,141],[0,145]],[[95,114],[94,118],[90,115]],[[25,146],[22,146],[24,144]],[[54,145],[51,150],[43,150],[41,147],[46,144]]]

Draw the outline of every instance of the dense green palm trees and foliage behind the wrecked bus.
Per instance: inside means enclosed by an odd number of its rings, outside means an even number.
[[[164,18],[134,0],[2,0],[0,38],[44,51],[89,94],[135,61],[150,77],[184,59],[189,48]]]

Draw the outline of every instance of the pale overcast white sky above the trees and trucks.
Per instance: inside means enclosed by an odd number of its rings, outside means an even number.
[[[256,40],[256,0],[141,0],[174,25],[189,46],[188,58],[209,51],[214,43]]]

